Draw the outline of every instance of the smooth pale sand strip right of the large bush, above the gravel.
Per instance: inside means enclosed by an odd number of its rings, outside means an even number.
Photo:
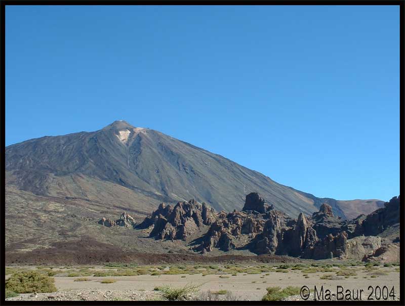
[[[269,275],[262,274],[242,274],[237,276],[227,275],[229,278],[220,278],[220,275],[139,275],[139,276],[120,276],[120,277],[87,277],[90,281],[75,282],[74,277],[55,277],[55,285],[58,291],[70,290],[110,290],[114,291],[153,291],[157,286],[170,285],[173,287],[182,287],[189,283],[202,284],[200,291],[228,290],[233,294],[246,300],[260,300],[266,293],[266,288],[270,286],[307,286],[313,292],[314,286],[318,289],[323,285],[323,290],[330,289],[337,291],[337,286],[342,286],[344,290],[363,289],[366,297],[371,292],[369,286],[387,286],[391,290],[394,286],[395,294],[399,295],[399,273],[393,272],[392,268],[381,268],[388,272],[388,275],[370,278],[366,272],[357,271],[357,278],[350,276],[339,280],[321,280],[320,276],[330,273],[308,274],[309,278],[304,278],[299,271],[290,271],[289,273],[275,273]],[[363,278],[366,277],[367,279]],[[114,279],[115,283],[102,284],[103,279]]]

